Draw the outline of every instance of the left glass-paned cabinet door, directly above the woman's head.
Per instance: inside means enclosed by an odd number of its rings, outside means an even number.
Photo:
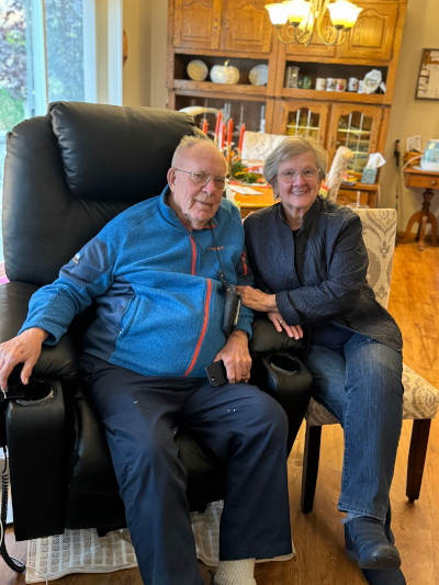
[[[282,100],[274,111],[273,132],[286,136],[308,136],[319,143],[325,142],[328,120],[327,103]]]

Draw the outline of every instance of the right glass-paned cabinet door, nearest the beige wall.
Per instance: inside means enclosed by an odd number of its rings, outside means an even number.
[[[348,170],[362,172],[370,153],[376,150],[381,108],[336,105],[333,113],[329,157],[346,146],[353,153]]]

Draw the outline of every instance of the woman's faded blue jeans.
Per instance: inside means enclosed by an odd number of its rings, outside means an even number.
[[[385,520],[403,413],[402,353],[354,334],[341,351],[312,345],[313,396],[341,424],[338,509]]]

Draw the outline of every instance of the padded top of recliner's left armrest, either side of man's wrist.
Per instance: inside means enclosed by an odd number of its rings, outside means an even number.
[[[26,282],[9,282],[0,286],[0,344],[16,336],[23,325],[31,296],[38,286]],[[56,346],[43,345],[33,376],[74,378],[78,373],[78,355],[67,333]],[[15,372],[16,375],[16,372]]]

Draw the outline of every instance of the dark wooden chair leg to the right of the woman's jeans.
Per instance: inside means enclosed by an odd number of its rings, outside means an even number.
[[[407,465],[407,488],[406,495],[409,502],[418,499],[420,484],[423,483],[424,463],[428,447],[428,435],[430,432],[431,420],[424,418],[413,421],[410,450]]]

